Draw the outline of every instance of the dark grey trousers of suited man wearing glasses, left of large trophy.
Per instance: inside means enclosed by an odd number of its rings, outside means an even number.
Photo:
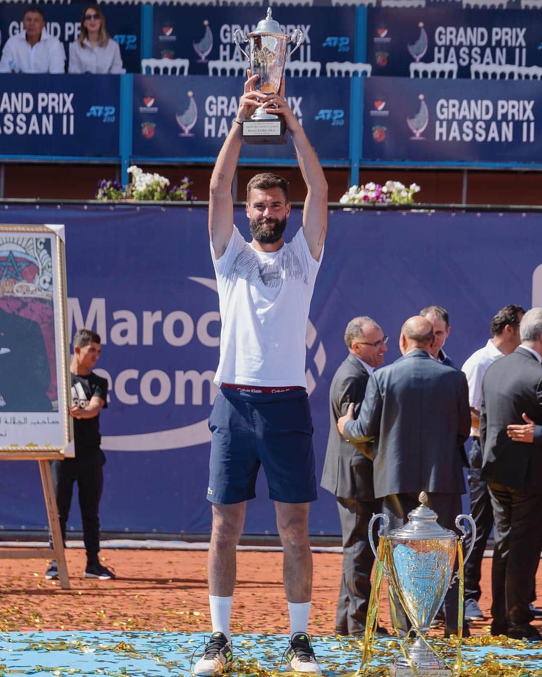
[[[369,520],[382,510],[382,500],[359,501],[337,496],[342,531],[342,576],[340,581],[336,632],[361,634],[371,594],[374,554],[369,545]]]

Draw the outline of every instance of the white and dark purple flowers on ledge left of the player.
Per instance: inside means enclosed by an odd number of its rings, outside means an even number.
[[[169,179],[160,174],[144,172],[133,165],[128,168],[131,181],[122,185],[118,181],[102,179],[98,181],[96,200],[190,200],[192,181],[184,177],[181,183],[170,188]]]

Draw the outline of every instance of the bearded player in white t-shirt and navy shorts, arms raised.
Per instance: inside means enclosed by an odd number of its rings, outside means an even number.
[[[305,378],[305,335],[315,278],[327,232],[328,184],[296,116],[278,94],[244,85],[210,180],[209,234],[222,320],[221,391],[209,418],[212,431],[207,498],[212,502],[208,555],[212,635],[196,675],[217,675],[231,665],[229,631],[235,587],[235,548],[243,531],[246,501],[255,496],[265,469],[284,548],[284,587],[290,613],[290,670],[321,674],[307,636],[312,560],[309,505],[316,500],[312,421]],[[231,185],[242,145],[242,121],[263,105],[290,131],[307,185],[302,227],[291,242],[283,232],[290,215],[288,184],[277,175],[253,177],[246,215],[252,242],[233,224]]]

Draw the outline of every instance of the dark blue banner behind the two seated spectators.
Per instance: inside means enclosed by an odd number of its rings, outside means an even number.
[[[49,35],[53,35],[64,44],[67,70],[68,46],[79,37],[85,4],[50,2],[37,4],[45,14],[45,28]],[[3,49],[8,38],[22,30],[22,16],[27,6],[22,3],[1,3],[0,49]],[[108,4],[102,6],[101,11],[106,17],[109,35],[120,46],[122,65],[129,73],[141,72],[141,7]]]

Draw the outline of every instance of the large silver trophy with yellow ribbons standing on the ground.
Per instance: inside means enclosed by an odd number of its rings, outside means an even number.
[[[426,644],[424,636],[431,621],[441,608],[445,594],[451,584],[458,536],[455,531],[443,529],[436,523],[438,515],[428,508],[428,496],[420,494],[420,506],[409,512],[409,521],[400,529],[392,529],[384,537],[384,569],[390,577],[395,599],[399,599],[417,633],[415,642],[407,650],[408,659],[400,655],[390,666],[391,677],[449,677],[451,670]],[[373,542],[373,525],[382,519],[384,526],[389,523],[386,515],[373,515],[369,522],[369,542],[378,559]],[[458,515],[455,525],[466,537],[462,520],[470,523],[472,540],[465,556],[470,556],[476,539],[476,525],[470,515]],[[411,662],[409,662],[411,661]]]

